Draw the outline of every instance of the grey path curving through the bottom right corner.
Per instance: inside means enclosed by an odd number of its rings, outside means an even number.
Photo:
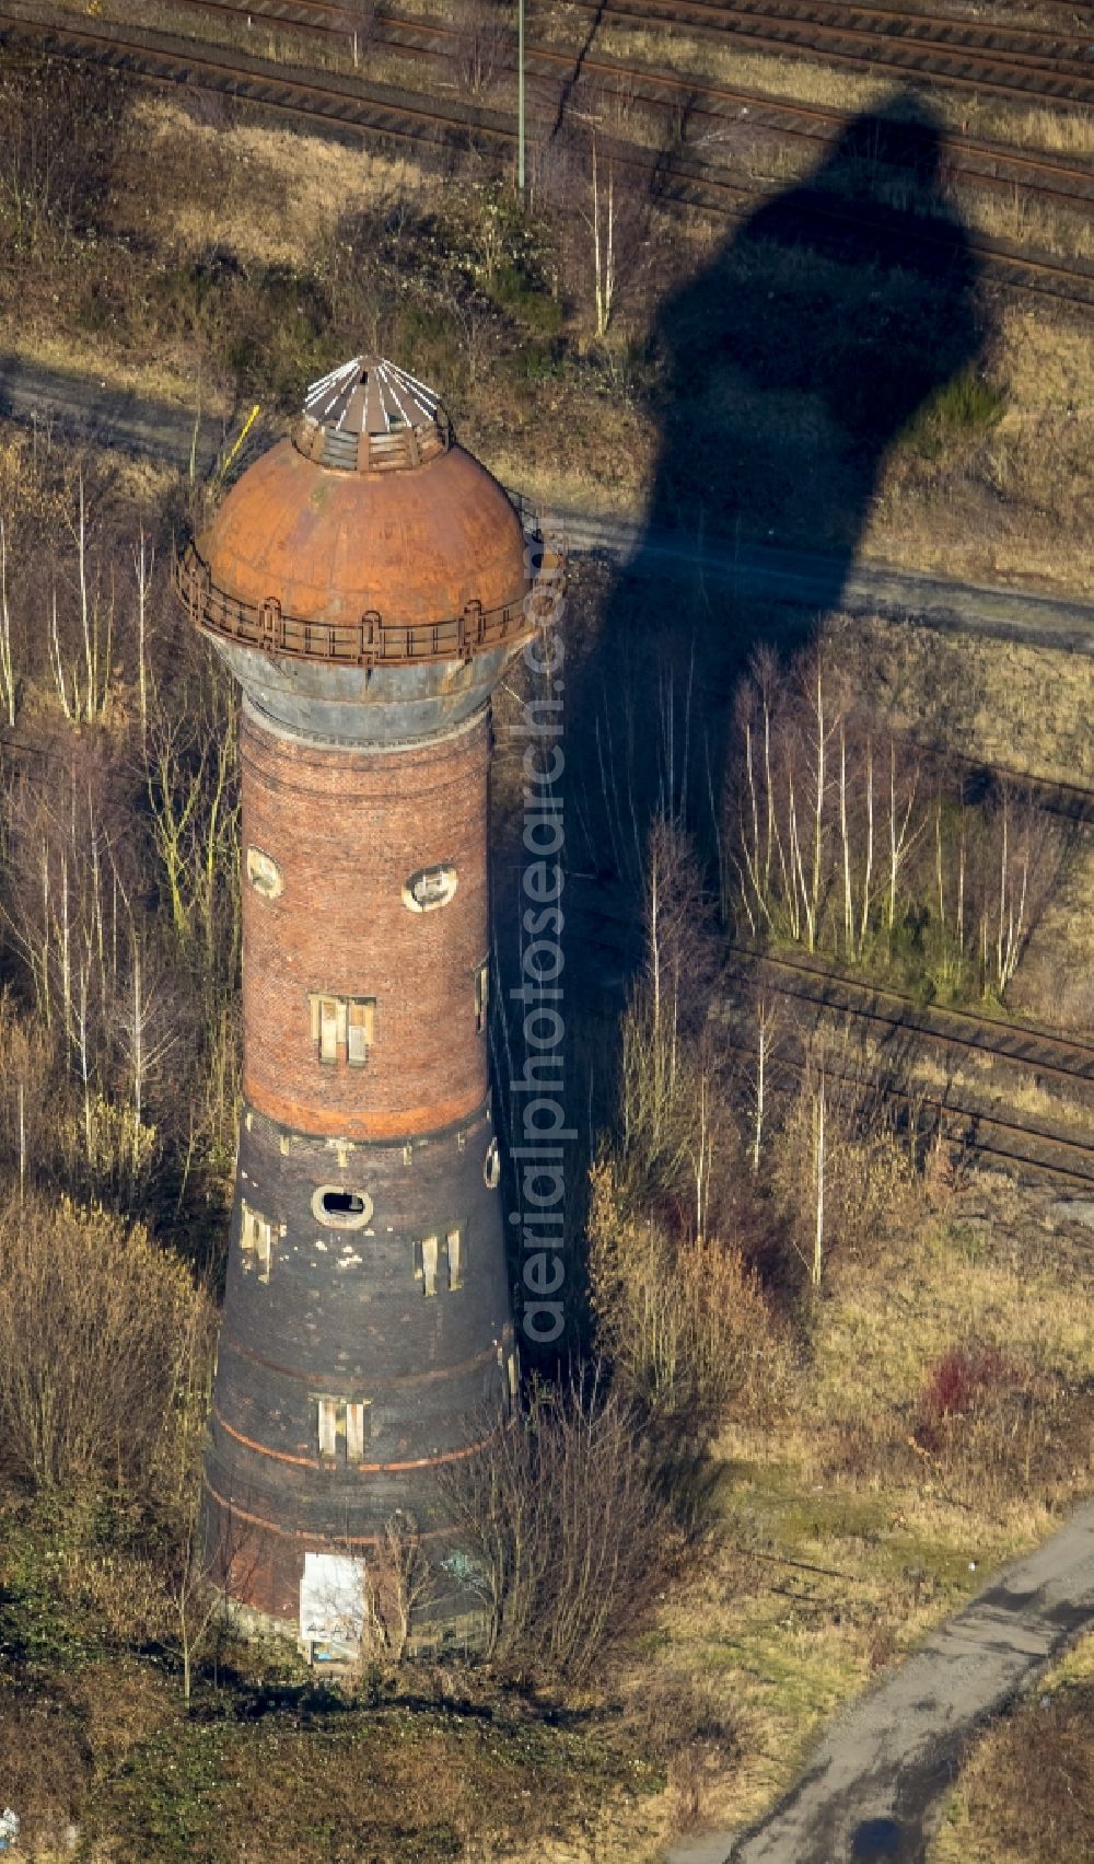
[[[678,1845],[667,1864],[921,1864],[977,1726],[1090,1625],[1088,1502],[852,1704],[770,1817]]]

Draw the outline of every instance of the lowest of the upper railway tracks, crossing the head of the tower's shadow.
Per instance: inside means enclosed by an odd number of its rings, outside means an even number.
[[[164,39],[158,34],[142,34],[134,39],[104,22],[60,24],[0,9],[0,41],[30,45],[60,58],[93,58],[158,84],[198,82],[263,110],[358,136],[373,134],[417,145],[485,144],[505,153],[516,142],[511,119],[498,112],[458,101],[444,108],[427,108],[423,99],[390,86],[335,75],[321,80],[226,48],[196,50],[192,43]],[[732,224],[745,220],[764,199],[762,192],[745,188],[727,173],[693,158],[663,160],[652,151],[609,140],[604,140],[604,153],[617,170],[641,175],[658,203],[667,209],[695,207]],[[906,261],[909,248],[934,255],[939,265],[967,254],[1006,289],[1051,296],[1085,311],[1094,306],[1094,265],[1087,261],[1029,254],[1006,240],[967,235],[958,224],[878,209],[861,199],[841,199],[824,188],[796,188],[796,203],[803,218],[826,224],[837,239],[846,233],[859,255],[867,237],[876,254],[893,263]]]

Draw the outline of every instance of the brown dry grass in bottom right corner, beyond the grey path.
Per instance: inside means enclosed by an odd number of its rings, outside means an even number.
[[[1094,1838],[1094,1637],[973,1748],[930,1864],[1087,1864]]]

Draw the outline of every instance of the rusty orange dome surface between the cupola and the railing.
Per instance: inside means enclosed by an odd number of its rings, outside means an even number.
[[[317,466],[281,440],[231,488],[198,550],[218,589],[274,598],[300,621],[445,621],[527,591],[522,522],[457,445],[384,473]]]

